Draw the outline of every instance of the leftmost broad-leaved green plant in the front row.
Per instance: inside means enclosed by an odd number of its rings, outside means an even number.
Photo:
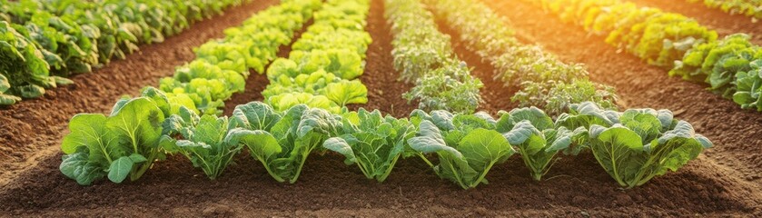
[[[77,114],[64,137],[60,170],[80,184],[108,175],[114,183],[140,178],[161,156],[164,114],[156,102],[139,97],[115,106],[110,116]]]

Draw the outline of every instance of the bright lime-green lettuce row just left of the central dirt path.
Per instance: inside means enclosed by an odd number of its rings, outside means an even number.
[[[368,102],[368,89],[357,79],[365,68],[371,35],[364,31],[368,1],[329,0],[314,22],[293,43],[289,58],[267,69],[270,84],[262,91],[277,111],[296,104],[341,111],[347,104]]]

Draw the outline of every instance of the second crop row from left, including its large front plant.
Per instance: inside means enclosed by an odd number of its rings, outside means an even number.
[[[119,183],[129,175],[136,180],[163,159],[162,135],[181,128],[178,119],[190,114],[219,114],[218,107],[231,94],[243,90],[249,69],[262,74],[280,45],[292,41],[321,2],[285,0],[225,30],[223,39],[196,48],[196,60],[163,78],[160,89],[143,88],[141,97],[122,99],[111,114],[77,114],[69,122],[72,134],[64,137],[60,170],[80,184],[108,176]],[[219,153],[221,148],[199,150]],[[217,160],[222,161],[222,160]]]

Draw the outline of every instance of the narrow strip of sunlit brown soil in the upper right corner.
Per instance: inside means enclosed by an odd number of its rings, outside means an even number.
[[[751,17],[730,15],[719,8],[709,8],[704,1],[689,3],[686,0],[627,0],[640,6],[657,7],[661,10],[694,18],[701,25],[716,30],[719,35],[738,33],[752,35],[752,43],[762,45],[762,21],[753,23]],[[677,2],[677,4],[676,4]]]

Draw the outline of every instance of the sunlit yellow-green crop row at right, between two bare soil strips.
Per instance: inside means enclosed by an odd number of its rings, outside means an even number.
[[[717,32],[683,15],[619,0],[543,0],[562,20],[635,54],[670,75],[709,85],[745,109],[762,111],[762,49],[744,34],[717,40]]]

